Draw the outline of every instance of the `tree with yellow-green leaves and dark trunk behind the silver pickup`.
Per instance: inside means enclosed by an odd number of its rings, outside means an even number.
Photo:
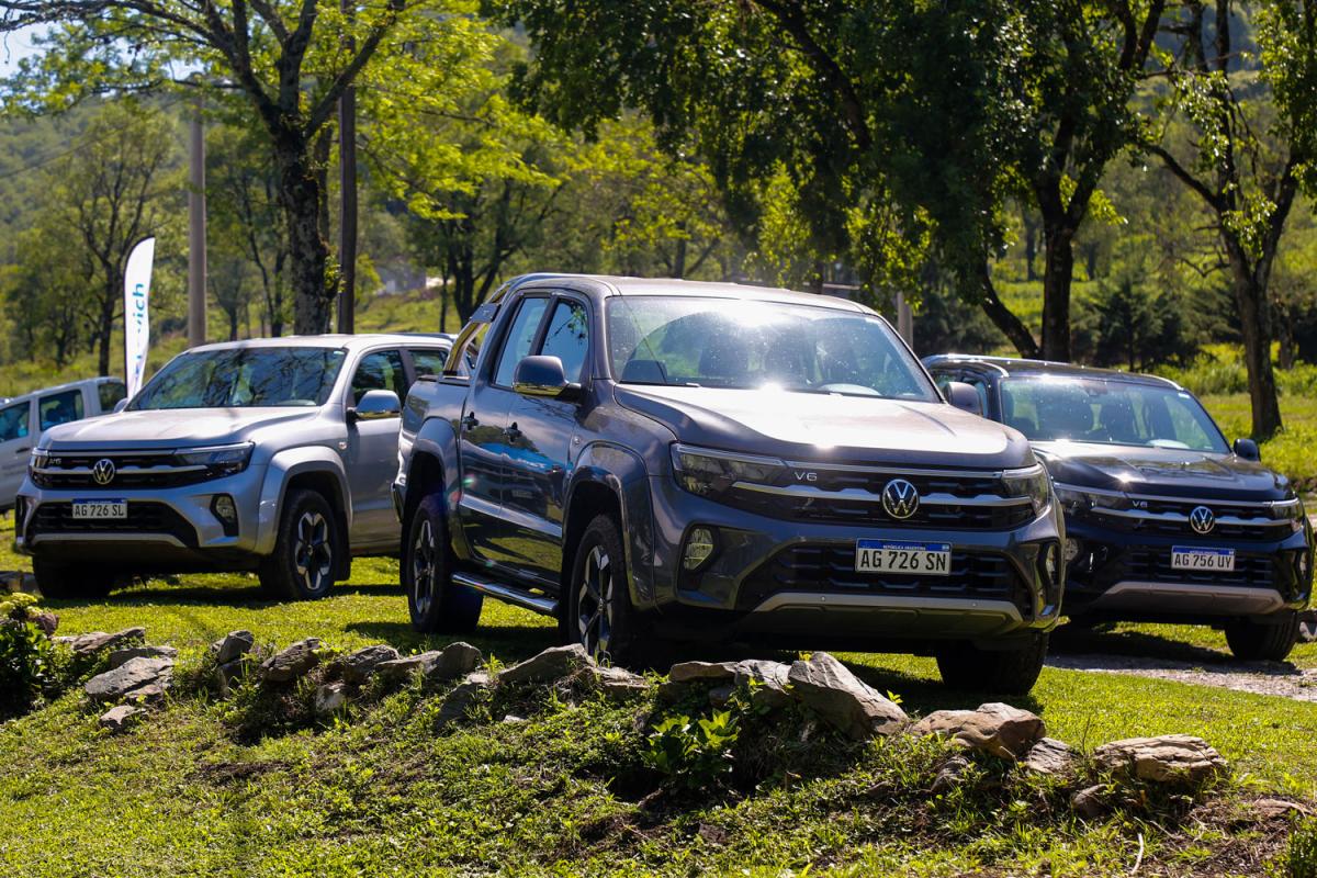
[[[178,67],[199,71],[188,82],[209,83],[220,100],[240,95],[278,174],[294,325],[313,333],[328,328],[336,295],[316,143],[333,130],[344,90],[379,72],[371,62],[386,37],[461,39],[466,12],[461,0],[386,0],[352,14],[338,0],[0,0],[0,30],[50,28],[46,53],[25,59],[11,82],[11,93],[32,105],[61,108],[87,92],[159,88],[174,83]],[[395,65],[383,82],[424,84],[440,72]]]

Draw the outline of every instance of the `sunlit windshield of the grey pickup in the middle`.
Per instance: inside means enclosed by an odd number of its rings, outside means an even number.
[[[607,324],[612,374],[624,384],[940,399],[892,328],[859,312],[741,299],[615,296]]]

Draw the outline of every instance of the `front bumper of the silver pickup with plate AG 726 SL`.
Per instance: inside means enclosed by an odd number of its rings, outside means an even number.
[[[253,569],[269,542],[262,521],[266,469],[252,465],[208,482],[136,490],[38,488],[29,479],[18,492],[14,549],[142,573]],[[220,495],[233,499],[236,527],[213,511]],[[128,517],[72,519],[72,502],[83,499],[126,500]]]

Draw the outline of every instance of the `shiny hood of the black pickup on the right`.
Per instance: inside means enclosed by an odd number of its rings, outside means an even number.
[[[1280,500],[1289,480],[1235,454],[1144,445],[1035,442],[1052,479],[1079,487],[1212,500]]]

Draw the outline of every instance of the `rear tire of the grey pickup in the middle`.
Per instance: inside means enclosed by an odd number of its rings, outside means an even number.
[[[412,628],[425,634],[475,631],[485,596],[453,582],[448,517],[441,495],[425,496],[412,513],[400,566]]]

